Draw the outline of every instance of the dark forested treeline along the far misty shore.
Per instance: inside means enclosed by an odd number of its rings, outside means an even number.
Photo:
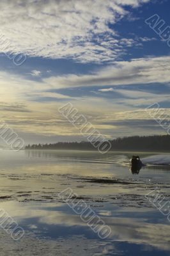
[[[132,136],[110,140],[111,150],[169,151],[170,135]],[[27,145],[26,149],[95,150],[88,141]],[[97,149],[96,149],[97,150]]]

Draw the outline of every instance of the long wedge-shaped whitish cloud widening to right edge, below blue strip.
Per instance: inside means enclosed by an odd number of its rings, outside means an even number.
[[[108,86],[122,84],[170,83],[170,57],[148,57],[130,61],[115,61],[93,74],[49,77],[44,83],[51,88]]]

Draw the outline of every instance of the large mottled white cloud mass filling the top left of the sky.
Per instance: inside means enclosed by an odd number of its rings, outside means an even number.
[[[135,8],[148,1],[1,1],[0,51],[81,62],[114,61],[125,52],[123,46],[137,42],[118,38],[109,25],[128,14],[125,6]]]

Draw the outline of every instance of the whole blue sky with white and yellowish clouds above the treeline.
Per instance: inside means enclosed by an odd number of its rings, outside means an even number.
[[[58,111],[71,103],[109,140],[166,134],[146,108],[157,102],[170,125],[170,43],[146,19],[158,15],[164,31],[169,8],[168,0],[1,0],[1,122],[26,143],[86,140]]]

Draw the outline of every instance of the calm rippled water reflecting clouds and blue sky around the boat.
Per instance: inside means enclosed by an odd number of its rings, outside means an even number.
[[[13,241],[1,228],[1,255],[170,255],[167,216],[146,198],[157,189],[169,202],[170,154],[139,155],[146,166],[132,175],[130,152],[1,150],[0,209],[25,230]],[[59,198],[67,188],[111,228],[109,237]]]

